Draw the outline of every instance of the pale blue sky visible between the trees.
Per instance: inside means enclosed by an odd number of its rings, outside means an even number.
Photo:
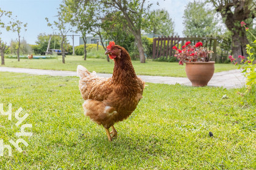
[[[151,0],[152,2],[155,2]],[[174,21],[174,32],[182,36],[183,31],[183,11],[188,2],[193,0],[159,0],[159,5],[152,6],[152,9],[165,9],[169,12],[169,15]],[[49,18],[49,21],[54,21],[57,15],[57,8],[62,0],[0,0],[1,10],[11,11],[13,16],[24,23],[27,23],[27,31],[21,30],[21,39],[25,39],[28,44],[35,44],[37,36],[40,33],[52,34],[53,30],[47,26],[45,18]],[[4,17],[2,21],[7,21]],[[10,44],[11,39],[16,40],[17,33],[6,32],[2,28],[1,39],[7,44]],[[77,35],[76,33],[68,33],[68,35]],[[72,44],[71,36],[68,37],[69,43]],[[79,45],[79,36],[74,38],[74,46]]]

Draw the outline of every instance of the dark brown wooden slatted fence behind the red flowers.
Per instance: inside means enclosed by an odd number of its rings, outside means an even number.
[[[154,38],[153,41],[153,54],[152,58],[160,58],[165,57],[168,59],[168,56],[174,56],[176,50],[172,49],[173,46],[176,46],[178,49],[181,49],[185,42],[190,41],[191,44],[196,44],[196,42],[201,41],[204,47],[207,47],[208,50],[213,50],[212,60],[216,60],[216,46],[217,46],[217,38],[204,38],[204,37],[186,37],[180,38],[179,36],[171,36],[171,37],[159,37]]]

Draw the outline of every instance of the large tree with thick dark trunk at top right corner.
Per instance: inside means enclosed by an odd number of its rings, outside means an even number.
[[[246,44],[249,41],[246,37],[246,31],[241,27],[241,21],[252,25],[256,16],[255,0],[210,0],[218,13],[221,14],[227,29],[232,33],[232,53],[235,58],[238,55],[246,56]]]

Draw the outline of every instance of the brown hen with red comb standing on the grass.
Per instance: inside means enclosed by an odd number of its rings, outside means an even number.
[[[77,66],[80,77],[79,89],[84,98],[84,114],[105,127],[109,141],[117,135],[113,126],[123,121],[136,109],[142,98],[144,82],[135,74],[126,49],[110,42],[105,54],[115,61],[113,76],[102,78],[96,72],[90,73],[83,66]],[[112,132],[109,128],[112,127]],[[112,135],[110,135],[112,134]]]

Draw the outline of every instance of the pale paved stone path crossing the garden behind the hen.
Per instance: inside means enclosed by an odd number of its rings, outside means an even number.
[[[77,76],[76,72],[60,71],[60,70],[40,70],[40,69],[25,69],[14,67],[0,67],[0,72],[16,72],[16,73],[29,73],[35,75],[52,75],[52,76]],[[97,73],[100,77],[111,77],[112,74]],[[183,77],[161,77],[161,76],[148,76],[138,75],[143,81],[148,83],[163,83],[163,84],[183,84],[191,86],[190,80]],[[208,86],[224,87],[227,89],[243,87],[245,78],[240,70],[229,70],[227,72],[214,73],[212,80],[209,81]]]

